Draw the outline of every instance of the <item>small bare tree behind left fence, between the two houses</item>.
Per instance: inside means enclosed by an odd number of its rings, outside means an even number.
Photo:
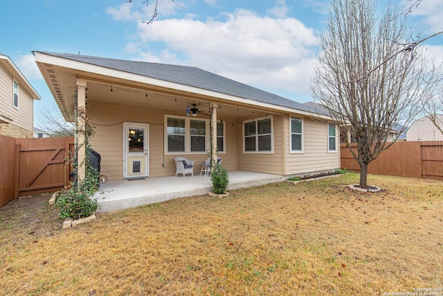
[[[75,134],[74,123],[66,122],[60,110],[55,106],[41,112],[39,126],[51,137],[71,137]]]

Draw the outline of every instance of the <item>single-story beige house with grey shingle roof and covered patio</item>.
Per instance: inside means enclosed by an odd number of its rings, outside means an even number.
[[[173,176],[178,156],[194,160],[199,173],[210,138],[228,171],[305,175],[340,166],[338,128],[307,105],[197,67],[34,55],[66,121],[74,121],[77,89],[109,181]]]

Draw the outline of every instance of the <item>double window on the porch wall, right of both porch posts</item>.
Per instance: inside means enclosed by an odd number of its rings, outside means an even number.
[[[272,118],[244,121],[244,152],[272,152]]]

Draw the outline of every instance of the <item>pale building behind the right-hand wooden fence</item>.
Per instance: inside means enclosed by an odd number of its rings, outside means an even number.
[[[437,122],[443,129],[443,114],[437,114]],[[443,141],[443,134],[428,116],[424,116],[410,125],[408,132],[406,132],[406,141]]]

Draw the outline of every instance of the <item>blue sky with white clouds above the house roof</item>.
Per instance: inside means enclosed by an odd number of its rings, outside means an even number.
[[[42,97],[34,103],[36,127],[56,104],[32,51],[199,67],[293,101],[312,101],[309,80],[329,0],[159,0],[159,16],[150,25],[143,21],[151,19],[155,0],[144,1],[2,1],[0,53]],[[415,1],[390,3],[404,10]],[[442,0],[422,0],[408,21],[425,36],[443,31],[442,15]],[[425,46],[443,62],[443,37]]]

